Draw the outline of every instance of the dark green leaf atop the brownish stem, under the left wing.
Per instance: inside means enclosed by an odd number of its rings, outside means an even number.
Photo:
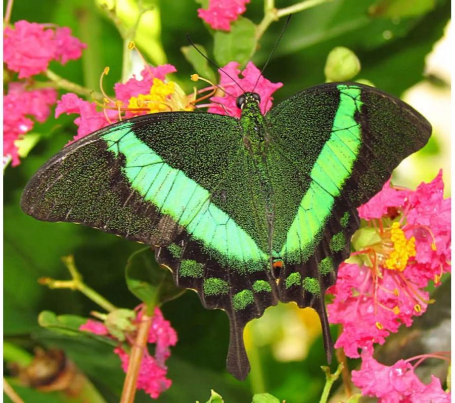
[[[170,271],[156,263],[155,254],[149,247],[138,250],[129,257],[125,277],[128,289],[147,305],[149,314],[157,305],[185,292],[185,289],[174,284]]]

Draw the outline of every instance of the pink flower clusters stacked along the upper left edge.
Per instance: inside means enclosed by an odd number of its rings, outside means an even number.
[[[57,100],[53,88],[28,89],[33,87],[30,77],[45,71],[51,60],[65,64],[68,60],[78,59],[84,47],[84,43],[71,36],[69,28],[49,29],[28,21],[18,21],[14,27],[5,28],[4,62],[9,70],[19,73],[18,77],[27,78],[27,81],[10,83],[4,96],[4,161],[11,158],[13,166],[19,165],[16,140],[33,128],[32,119],[44,122]]]

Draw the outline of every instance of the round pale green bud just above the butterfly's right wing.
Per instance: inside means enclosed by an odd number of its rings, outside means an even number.
[[[327,56],[324,74],[326,81],[346,81],[360,71],[360,61],[347,47],[337,46]]]

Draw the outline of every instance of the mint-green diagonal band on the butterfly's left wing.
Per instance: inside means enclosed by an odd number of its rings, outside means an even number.
[[[257,262],[267,262],[267,255],[228,214],[210,201],[208,190],[183,171],[165,163],[147,144],[134,135],[133,125],[125,123],[104,134],[108,149],[125,158],[123,172],[131,187],[161,214],[169,215],[205,247],[213,249],[234,266],[261,270]],[[236,265],[237,261],[237,265]]]

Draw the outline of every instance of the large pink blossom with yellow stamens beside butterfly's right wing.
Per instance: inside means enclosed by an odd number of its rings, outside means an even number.
[[[328,305],[331,323],[343,325],[335,347],[349,357],[411,326],[431,303],[424,288],[450,271],[450,199],[442,173],[413,191],[387,182],[358,209],[366,226],[354,235],[355,252],[342,263]]]

